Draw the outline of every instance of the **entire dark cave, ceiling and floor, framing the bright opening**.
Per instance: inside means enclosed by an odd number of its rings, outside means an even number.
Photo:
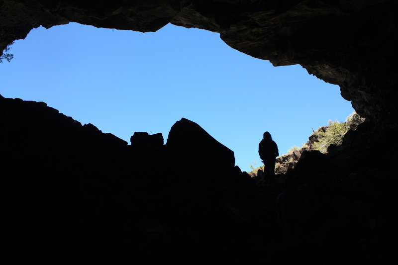
[[[0,0],[0,7],[1,50],[40,25],[195,27],[274,66],[301,65],[338,85],[366,118],[327,155],[301,156],[283,186],[259,187],[234,166],[231,150],[190,120],[173,125],[166,144],[137,133],[128,146],[43,102],[0,97],[5,241],[15,263],[395,258],[396,1]],[[167,159],[148,168],[154,155]],[[195,168],[181,166],[187,159]],[[282,190],[295,213],[283,225]]]

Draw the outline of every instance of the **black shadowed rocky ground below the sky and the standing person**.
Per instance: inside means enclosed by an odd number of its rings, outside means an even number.
[[[131,145],[43,102],[0,97],[0,120],[3,240],[14,264],[393,257],[397,128],[361,124],[327,155],[303,151],[282,181],[256,185],[186,119],[166,144],[135,133]]]

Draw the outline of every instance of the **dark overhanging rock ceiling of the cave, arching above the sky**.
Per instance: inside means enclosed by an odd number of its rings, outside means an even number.
[[[361,116],[394,126],[397,10],[395,0],[0,0],[0,50],[40,25],[196,27],[274,66],[299,64]]]

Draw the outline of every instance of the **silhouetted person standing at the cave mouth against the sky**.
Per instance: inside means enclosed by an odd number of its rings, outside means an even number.
[[[275,159],[279,156],[278,146],[269,132],[263,134],[263,140],[258,145],[258,154],[264,163],[265,177],[269,181],[275,175]]]

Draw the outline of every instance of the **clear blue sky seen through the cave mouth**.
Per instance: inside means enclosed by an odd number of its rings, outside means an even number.
[[[0,64],[2,96],[44,101],[128,143],[136,131],[161,132],[166,143],[184,117],[234,151],[242,171],[262,165],[264,131],[282,155],[307,142],[312,128],[354,111],[338,86],[299,65],[273,67],[232,49],[218,33],[171,24],[147,33],[40,27],[10,53],[14,59]]]

